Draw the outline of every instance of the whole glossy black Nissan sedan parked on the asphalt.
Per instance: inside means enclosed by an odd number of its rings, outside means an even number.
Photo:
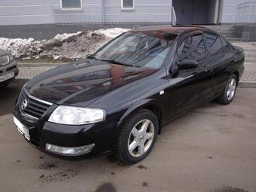
[[[123,163],[137,163],[163,124],[213,99],[232,102],[244,59],[241,48],[203,27],[132,30],[87,59],[29,81],[14,123],[49,154],[112,151]]]

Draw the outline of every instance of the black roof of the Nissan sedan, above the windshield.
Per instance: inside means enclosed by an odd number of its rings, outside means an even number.
[[[145,26],[139,29],[133,29],[132,32],[166,32],[169,34],[181,35],[184,32],[198,30],[209,30],[215,32],[204,26]]]

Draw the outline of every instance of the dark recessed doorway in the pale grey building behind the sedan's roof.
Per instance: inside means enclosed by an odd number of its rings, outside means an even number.
[[[177,25],[214,24],[218,0],[172,0]]]

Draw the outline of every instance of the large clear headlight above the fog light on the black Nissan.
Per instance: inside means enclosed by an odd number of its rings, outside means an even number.
[[[59,106],[50,115],[49,121],[66,125],[82,125],[105,120],[105,110],[101,108],[78,108]]]

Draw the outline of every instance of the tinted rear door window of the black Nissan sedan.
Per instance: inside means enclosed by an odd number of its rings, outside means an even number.
[[[218,35],[206,32],[205,37],[211,56],[217,56],[223,53],[221,38]]]

